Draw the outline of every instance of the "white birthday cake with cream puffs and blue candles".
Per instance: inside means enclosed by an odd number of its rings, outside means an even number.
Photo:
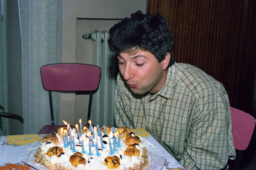
[[[35,162],[48,169],[145,169],[148,153],[129,128],[80,124],[44,136]]]

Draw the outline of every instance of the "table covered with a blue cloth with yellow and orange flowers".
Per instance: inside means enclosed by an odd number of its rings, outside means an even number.
[[[166,169],[184,169],[177,160],[175,160],[170,153],[168,153],[163,146],[161,146],[156,139],[154,139],[145,129],[132,129],[132,132],[141,136],[152,145],[154,145],[159,152],[166,159]],[[0,136],[0,170],[1,169],[33,169],[21,162],[22,155],[28,148],[39,142],[44,135],[40,134],[22,134],[11,136]]]

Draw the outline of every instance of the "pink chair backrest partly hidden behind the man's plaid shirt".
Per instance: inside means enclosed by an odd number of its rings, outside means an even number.
[[[230,107],[232,130],[236,150],[246,150],[255,128],[255,118],[241,110]]]

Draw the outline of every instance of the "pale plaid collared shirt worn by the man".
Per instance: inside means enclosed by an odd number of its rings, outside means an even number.
[[[186,169],[221,169],[236,157],[227,92],[189,64],[175,62],[154,95],[132,94],[118,74],[115,124],[146,129]]]

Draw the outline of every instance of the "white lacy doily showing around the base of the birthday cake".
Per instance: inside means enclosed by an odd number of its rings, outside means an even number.
[[[147,152],[148,152],[148,166],[146,169],[147,170],[163,169],[164,162],[165,162],[163,155],[159,152],[159,150],[155,148],[154,145],[152,145],[152,143],[147,141],[145,138],[140,137],[140,139],[143,145],[145,145],[145,147],[147,148]],[[27,164],[28,166],[33,167],[34,169],[49,170],[47,169],[47,167],[42,166],[41,164],[37,164],[34,161],[35,160],[34,155],[39,145],[40,143],[35,143],[35,145],[31,146],[31,148],[28,148],[27,152],[24,153],[24,155],[22,156],[21,162],[23,162],[24,164]]]

